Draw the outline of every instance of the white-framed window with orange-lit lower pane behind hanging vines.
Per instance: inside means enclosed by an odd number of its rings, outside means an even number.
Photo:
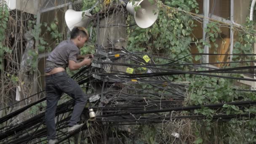
[[[232,5],[234,4],[234,0],[197,0],[199,3],[199,13],[203,14],[205,18],[203,19],[203,24],[197,26],[195,28],[196,37],[203,39],[204,41],[210,43],[211,46],[204,47],[204,53],[219,53],[219,54],[231,54],[232,47],[233,47],[233,40],[232,40],[232,24],[233,24],[233,8]],[[208,12],[208,13],[205,13]],[[216,19],[218,21],[223,21],[228,26],[221,24],[219,35],[216,37],[215,42],[211,42],[209,40],[209,36],[205,35],[205,30],[202,29],[207,27],[207,24],[211,23],[208,18]],[[244,17],[245,19],[245,17]],[[202,27],[202,28],[200,28]],[[200,30],[201,29],[201,30]],[[201,33],[201,34],[200,34]],[[201,38],[200,38],[201,37]],[[215,44],[215,45],[214,45]],[[216,47],[217,45],[217,47]],[[192,44],[191,51],[195,51],[195,45]],[[231,61],[230,56],[223,56],[223,55],[210,55],[204,57],[204,63],[216,63],[216,62],[224,62],[224,61]],[[198,61],[196,62],[198,63]],[[224,67],[227,64],[212,64],[213,67]]]

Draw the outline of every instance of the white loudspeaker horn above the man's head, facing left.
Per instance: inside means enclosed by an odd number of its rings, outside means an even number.
[[[84,16],[82,14],[84,13]],[[68,9],[65,12],[65,21],[67,27],[70,31],[76,27],[87,27],[89,24],[89,19],[91,17],[90,10],[86,11],[74,11],[72,9]]]

